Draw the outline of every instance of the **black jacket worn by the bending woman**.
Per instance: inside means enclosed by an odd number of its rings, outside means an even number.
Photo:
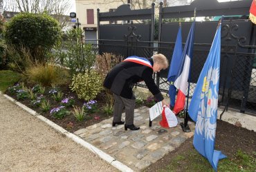
[[[147,60],[154,65],[153,59]],[[107,74],[104,80],[104,87],[111,89],[114,94],[123,98],[133,99],[132,88],[134,85],[142,80],[145,81],[148,89],[156,100],[163,100],[163,96],[156,86],[154,79],[152,78],[153,69],[146,65],[140,65],[138,63],[123,61],[113,67],[109,74]]]

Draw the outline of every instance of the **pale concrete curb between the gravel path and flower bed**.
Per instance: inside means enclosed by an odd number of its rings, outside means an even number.
[[[0,92],[0,94],[3,94],[3,93]],[[66,131],[66,129],[63,129],[59,125],[56,125],[54,122],[52,122],[51,120],[48,120],[44,116],[37,114],[37,112],[34,111],[33,109],[30,109],[26,105],[23,105],[22,103],[19,103],[17,100],[11,98],[10,96],[8,96],[6,94],[3,94],[3,96],[6,97],[8,100],[10,100],[12,103],[15,103],[15,105],[21,107],[21,109],[24,109],[25,111],[27,111],[29,114],[35,116],[36,118],[39,118],[39,120],[42,120],[43,122],[46,122],[46,124],[53,127],[56,131],[59,131],[60,133],[63,133],[67,138],[71,138],[77,144],[81,144],[86,149],[89,149],[91,152],[95,153],[100,158],[102,158],[102,160],[105,160],[109,164],[111,164],[112,166],[116,167],[116,169],[118,169],[120,171],[126,171],[126,172],[133,171],[132,169],[130,169],[125,164],[122,164],[122,162],[120,162],[120,161],[116,160],[115,158],[111,157],[111,155],[109,155],[107,153],[104,153],[104,151],[101,151],[97,147],[94,147],[89,142],[86,142],[85,140],[76,136],[75,134]]]

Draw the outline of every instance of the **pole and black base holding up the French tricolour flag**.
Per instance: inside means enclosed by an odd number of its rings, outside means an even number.
[[[194,22],[196,21],[196,8],[194,8]],[[187,105],[184,109],[184,124],[181,123],[181,127],[184,132],[190,132],[190,126],[188,126],[188,99],[190,98],[190,77],[191,77],[191,67],[192,61],[190,61],[190,72],[188,76],[188,95],[187,95]]]

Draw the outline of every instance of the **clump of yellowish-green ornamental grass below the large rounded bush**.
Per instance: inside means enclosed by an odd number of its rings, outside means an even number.
[[[67,81],[68,73],[53,65],[34,65],[26,70],[26,76],[32,83],[50,86],[63,84]]]

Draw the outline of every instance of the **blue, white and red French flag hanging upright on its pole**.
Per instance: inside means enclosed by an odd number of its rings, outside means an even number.
[[[174,113],[179,114],[180,111],[184,109],[185,106],[185,95],[188,89],[188,78],[190,77],[190,63],[192,61],[193,55],[193,45],[194,45],[194,25],[195,21],[192,23],[190,32],[188,34],[187,41],[181,56],[181,64],[179,67],[179,73],[176,75],[174,86],[179,89],[176,103],[174,105]]]

